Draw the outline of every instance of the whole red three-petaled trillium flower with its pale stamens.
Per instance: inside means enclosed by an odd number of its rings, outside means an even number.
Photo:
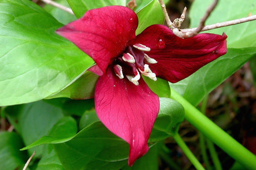
[[[224,33],[181,39],[164,25],[151,25],[135,36],[137,27],[132,10],[107,6],[57,30],[97,64],[90,69],[100,75],[95,110],[111,132],[129,143],[130,166],[148,151],[159,111],[159,98],[141,75],[175,83],[227,51]]]

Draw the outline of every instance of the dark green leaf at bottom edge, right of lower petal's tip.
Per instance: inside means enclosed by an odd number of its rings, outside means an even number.
[[[147,154],[136,160],[134,165],[122,168],[122,170],[138,170],[138,169],[147,169],[147,170],[157,170],[158,169],[158,146],[154,145],[151,147]]]

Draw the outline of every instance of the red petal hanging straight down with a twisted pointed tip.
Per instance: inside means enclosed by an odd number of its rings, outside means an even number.
[[[101,122],[130,145],[129,165],[148,151],[147,141],[159,111],[159,98],[140,79],[139,86],[107,69],[95,88]]]

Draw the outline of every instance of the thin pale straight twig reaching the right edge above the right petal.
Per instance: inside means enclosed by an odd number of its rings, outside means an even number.
[[[203,29],[201,31],[207,31],[207,30],[212,30],[212,29],[216,29],[216,28],[227,27],[227,26],[230,26],[230,25],[235,25],[235,24],[238,24],[238,23],[249,22],[249,21],[253,21],[253,20],[256,20],[256,15],[247,16],[245,18],[231,20],[231,21],[215,23],[215,24],[212,24],[212,25],[206,25],[205,27],[203,27]],[[181,32],[182,33],[186,33],[186,32],[194,31],[196,29],[197,28],[182,29]]]

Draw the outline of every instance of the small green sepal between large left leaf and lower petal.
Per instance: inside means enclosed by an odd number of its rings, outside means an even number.
[[[68,97],[71,99],[88,99],[94,97],[94,90],[99,76],[87,71],[79,79],[58,94],[49,98]]]

